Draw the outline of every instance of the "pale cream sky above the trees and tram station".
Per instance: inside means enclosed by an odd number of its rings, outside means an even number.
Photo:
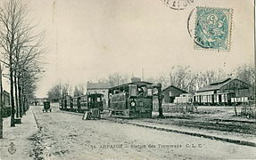
[[[161,0],[22,0],[29,20],[44,31],[45,73],[37,97],[51,86],[86,84],[114,72],[155,77],[172,66],[194,71],[230,72],[254,64],[253,0],[194,0],[173,10]],[[194,31],[196,6],[232,8],[229,52],[194,49],[187,26]],[[187,23],[189,25],[187,25]]]

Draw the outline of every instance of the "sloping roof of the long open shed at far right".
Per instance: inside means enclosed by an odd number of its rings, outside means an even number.
[[[196,92],[205,92],[205,91],[219,90],[222,86],[230,83],[233,80],[235,80],[235,79],[227,78],[227,79],[224,79],[224,80],[219,80],[219,81],[213,82],[213,83],[211,83],[209,85],[206,85],[206,86],[200,88]]]

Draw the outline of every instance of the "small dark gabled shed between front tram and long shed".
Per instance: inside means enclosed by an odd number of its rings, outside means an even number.
[[[179,89],[178,87],[174,85],[169,85],[169,87],[162,90],[163,97],[163,103],[174,103],[174,100],[176,97],[179,97],[180,94],[187,93],[186,91],[183,91],[182,89]]]

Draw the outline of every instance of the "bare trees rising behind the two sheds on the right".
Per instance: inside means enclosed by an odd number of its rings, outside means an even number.
[[[211,84],[217,80],[226,79],[227,77],[238,78],[247,84],[251,84],[253,89],[255,89],[255,68],[251,65],[243,65],[234,68],[233,71],[228,74],[222,69],[196,73],[188,66],[177,66],[171,68],[169,74],[161,75],[156,78],[148,78],[147,81],[161,83],[162,88],[175,85],[186,92],[194,93],[202,86]]]

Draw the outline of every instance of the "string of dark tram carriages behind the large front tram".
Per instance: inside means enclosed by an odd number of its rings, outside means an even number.
[[[103,94],[100,93],[81,95],[74,98],[67,97],[59,102],[61,110],[84,113],[90,109],[98,108],[103,111]]]

